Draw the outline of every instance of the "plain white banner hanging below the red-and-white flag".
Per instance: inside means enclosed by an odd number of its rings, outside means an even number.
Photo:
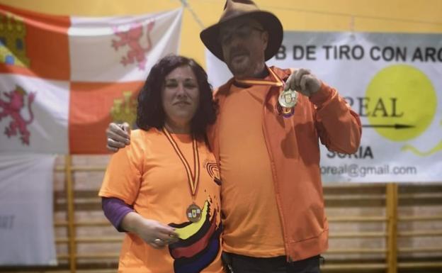
[[[0,155],[0,265],[57,264],[54,155]]]

